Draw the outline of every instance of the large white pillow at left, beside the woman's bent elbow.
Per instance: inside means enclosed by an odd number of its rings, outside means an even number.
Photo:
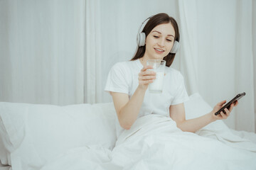
[[[0,103],[0,135],[13,169],[40,169],[68,149],[116,141],[113,103],[70,106]]]

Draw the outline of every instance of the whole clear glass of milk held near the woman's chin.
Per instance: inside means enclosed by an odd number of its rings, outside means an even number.
[[[149,84],[149,93],[161,94],[164,85],[164,68],[166,67],[166,61],[147,60],[146,64],[153,66],[153,69],[149,70],[156,72],[156,79],[154,79],[153,83]]]

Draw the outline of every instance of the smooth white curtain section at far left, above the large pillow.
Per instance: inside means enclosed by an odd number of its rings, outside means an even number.
[[[85,2],[0,1],[0,101],[83,103]]]

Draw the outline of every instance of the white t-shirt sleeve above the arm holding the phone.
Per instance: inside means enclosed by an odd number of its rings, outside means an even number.
[[[176,95],[174,96],[174,100],[172,101],[171,105],[183,103],[185,101],[188,101],[189,99],[182,74],[178,72],[177,76],[178,87]]]

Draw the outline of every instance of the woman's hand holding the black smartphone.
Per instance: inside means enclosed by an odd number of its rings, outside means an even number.
[[[235,101],[235,103],[232,103],[230,105],[230,108],[225,108],[224,111],[225,113],[220,112],[220,114],[215,115],[216,112],[218,112],[218,110],[220,110],[220,108],[222,108],[225,105],[226,101],[220,101],[220,103],[218,103],[214,108],[213,111],[211,111],[211,115],[213,116],[213,118],[215,120],[221,120],[221,119],[226,119],[228,118],[228,116],[230,115],[230,112],[233,110],[233,108],[235,106],[238,106],[238,101]]]

